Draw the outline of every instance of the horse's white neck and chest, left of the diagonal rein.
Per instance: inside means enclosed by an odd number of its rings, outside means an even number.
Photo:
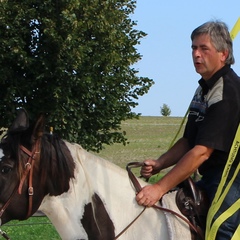
[[[81,219],[85,205],[97,194],[115,231],[120,232],[141,210],[126,172],[79,145],[68,144],[68,147],[76,164],[75,179],[68,192],[46,196],[39,209],[49,217],[62,239],[87,239]]]

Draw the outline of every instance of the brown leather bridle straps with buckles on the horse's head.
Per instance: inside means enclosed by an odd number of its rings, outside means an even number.
[[[19,184],[17,184],[11,193],[10,197],[6,201],[6,203],[1,207],[0,209],[0,226],[1,226],[1,218],[11,201],[14,199],[15,194],[18,192],[19,195],[22,194],[22,187],[23,184],[28,177],[28,212],[26,214],[26,218],[29,218],[32,215],[32,207],[33,207],[33,194],[34,194],[34,189],[33,189],[33,170],[34,170],[34,163],[35,161],[40,159],[40,142],[41,138],[38,138],[32,148],[32,151],[29,151],[26,147],[23,145],[20,145],[20,150],[22,150],[23,153],[25,153],[28,156],[27,163],[25,164],[25,169],[24,172],[21,176],[21,179],[19,181]],[[3,232],[0,229],[0,234],[5,238],[5,239],[10,239],[5,232]]]

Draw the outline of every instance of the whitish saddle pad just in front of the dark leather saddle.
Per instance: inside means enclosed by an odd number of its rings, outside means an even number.
[[[175,202],[176,193],[177,191],[173,191],[165,194],[162,198],[162,207],[171,209],[182,215]],[[164,212],[164,215],[166,217],[170,240],[191,240],[191,233],[187,223],[174,214]]]

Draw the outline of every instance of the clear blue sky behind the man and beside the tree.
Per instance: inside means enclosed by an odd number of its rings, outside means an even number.
[[[240,17],[239,0],[137,0],[132,20],[148,35],[137,46],[142,59],[134,65],[139,76],[155,84],[133,109],[142,116],[161,116],[167,104],[171,116],[185,115],[201,78],[191,56],[191,32],[204,22],[220,20],[229,31]],[[240,75],[240,32],[233,41],[235,64]]]

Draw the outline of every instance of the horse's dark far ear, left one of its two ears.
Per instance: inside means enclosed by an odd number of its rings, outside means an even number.
[[[8,129],[8,132],[22,132],[28,129],[29,118],[25,109],[18,110],[16,119],[14,120],[12,126]]]

